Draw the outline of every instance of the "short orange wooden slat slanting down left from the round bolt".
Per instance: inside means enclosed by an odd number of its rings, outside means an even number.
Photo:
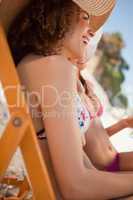
[[[28,126],[28,120],[26,118],[24,119],[24,117],[21,118],[23,122],[20,127],[13,126],[13,120],[16,116],[21,117],[18,113],[12,114],[4,134],[0,139],[0,177],[4,175],[5,170],[8,168],[11,158],[22,141]]]

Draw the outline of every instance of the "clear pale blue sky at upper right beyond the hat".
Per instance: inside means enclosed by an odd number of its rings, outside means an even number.
[[[126,81],[123,85],[123,88],[126,88],[126,92],[129,94],[131,91],[133,91],[133,0],[116,1],[116,7],[108,22],[105,24],[104,31],[117,31],[122,33],[126,44],[126,47],[123,49],[123,56],[130,65],[130,70],[126,73]]]

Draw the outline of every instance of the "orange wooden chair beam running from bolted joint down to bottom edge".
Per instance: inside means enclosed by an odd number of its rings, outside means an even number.
[[[42,199],[55,199],[47,169],[45,167],[45,160],[42,159],[42,153],[38,146],[38,141],[32,134],[32,127],[29,127],[20,147],[25,160],[29,179],[33,187],[34,195],[38,197],[37,200],[41,200],[42,197]],[[41,165],[39,160],[41,161]]]

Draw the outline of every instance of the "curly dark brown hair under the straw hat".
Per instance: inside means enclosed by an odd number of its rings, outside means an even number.
[[[15,64],[27,54],[58,54],[65,34],[76,25],[80,8],[72,0],[30,0],[11,24],[8,42]]]

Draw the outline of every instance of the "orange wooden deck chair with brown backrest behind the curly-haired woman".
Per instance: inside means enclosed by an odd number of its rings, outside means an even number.
[[[28,0],[3,0],[0,3],[0,81],[8,105],[17,105],[16,91],[8,88],[19,86],[20,81],[6,40],[6,31],[13,18],[26,3]],[[20,99],[24,99],[23,91],[21,91]],[[26,100],[23,107],[9,106],[8,109],[11,117],[0,137],[0,183],[16,185],[20,190],[15,197],[0,197],[0,199],[23,200],[30,189],[32,189],[34,200],[58,199],[31,116],[27,114]],[[21,150],[28,175],[21,181],[4,176],[18,147]]]

